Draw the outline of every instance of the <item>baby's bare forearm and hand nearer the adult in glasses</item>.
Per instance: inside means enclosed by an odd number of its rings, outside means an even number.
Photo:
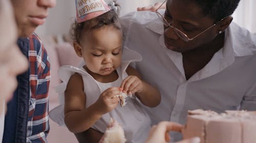
[[[156,107],[161,101],[159,91],[146,81],[143,81],[140,74],[131,66],[126,69],[126,72],[129,76],[126,77],[121,84],[123,92],[135,93],[144,105]]]

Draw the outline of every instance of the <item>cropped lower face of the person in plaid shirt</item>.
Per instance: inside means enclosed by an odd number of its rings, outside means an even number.
[[[16,23],[18,37],[28,37],[38,25],[45,23],[48,16],[48,8],[56,4],[56,0],[11,0]]]

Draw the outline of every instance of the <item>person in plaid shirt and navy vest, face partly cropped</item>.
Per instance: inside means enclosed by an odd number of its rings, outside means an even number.
[[[18,28],[18,47],[29,69],[17,76],[18,87],[7,105],[3,142],[47,142],[50,63],[39,38],[33,34],[44,24],[55,0],[12,0]]]

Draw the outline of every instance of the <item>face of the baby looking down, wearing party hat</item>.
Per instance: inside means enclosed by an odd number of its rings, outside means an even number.
[[[82,58],[87,68],[99,75],[109,75],[121,64],[122,32],[113,26],[103,26],[84,34]]]

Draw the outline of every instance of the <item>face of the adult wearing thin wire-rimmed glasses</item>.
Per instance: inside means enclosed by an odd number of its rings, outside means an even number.
[[[214,24],[214,20],[205,16],[202,9],[193,1],[169,0],[166,3],[165,19],[172,21],[172,26],[178,28],[189,38],[193,38]],[[216,27],[185,42],[174,32],[172,27],[164,26],[164,41],[168,49],[186,52],[198,48],[216,37]]]

